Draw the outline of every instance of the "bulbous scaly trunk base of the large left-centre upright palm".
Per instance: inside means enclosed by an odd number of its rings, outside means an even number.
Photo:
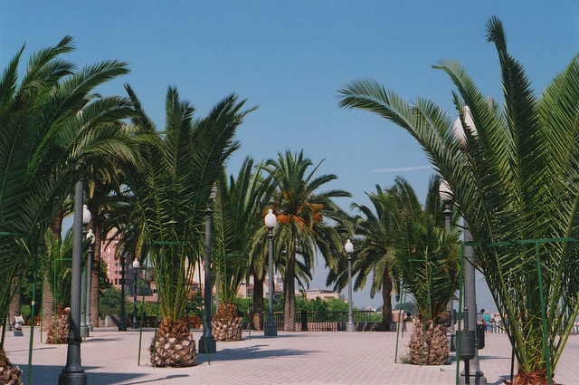
[[[157,343],[153,337],[149,351],[151,363],[157,367],[186,367],[197,362],[193,333],[181,320],[163,320],[157,331]]]

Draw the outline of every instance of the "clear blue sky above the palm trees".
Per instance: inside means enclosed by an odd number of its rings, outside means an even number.
[[[375,78],[405,99],[424,96],[452,114],[451,82],[432,64],[456,59],[484,93],[498,100],[498,59],[485,39],[497,15],[510,53],[527,69],[537,92],[579,51],[576,1],[99,1],[3,2],[0,60],[4,68],[22,44],[24,58],[71,35],[80,67],[104,59],[126,61],[130,74],[101,93],[123,93],[128,82],[159,128],[168,85],[204,116],[237,92],[248,106],[239,130],[242,148],[229,161],[237,172],[246,156],[270,159],[304,149],[320,172],[366,203],[365,192],[410,181],[424,197],[432,168],[402,129],[364,111],[337,107],[337,89]],[[321,269],[318,269],[321,270]],[[321,273],[321,272],[320,272]],[[316,274],[311,286],[322,285]],[[381,303],[367,292],[356,306]],[[479,307],[493,309],[488,298]]]

